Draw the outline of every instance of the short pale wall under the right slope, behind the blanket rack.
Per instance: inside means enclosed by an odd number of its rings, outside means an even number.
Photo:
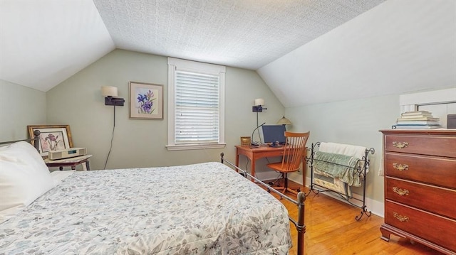
[[[382,158],[379,130],[391,128],[398,118],[399,109],[399,95],[389,95],[292,107],[286,109],[286,115],[294,122],[293,130],[311,131],[309,148],[311,143],[318,141],[374,148],[375,153],[370,156],[366,195],[372,200],[383,201],[383,176],[378,175]],[[306,175],[310,178],[310,170]],[[362,190],[355,188],[353,192],[361,194]]]

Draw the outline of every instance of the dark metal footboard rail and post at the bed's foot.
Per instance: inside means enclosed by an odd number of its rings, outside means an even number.
[[[305,212],[304,211],[304,201],[306,201],[306,194],[304,192],[298,192],[297,200],[294,200],[291,197],[284,195],[284,193],[280,192],[279,190],[275,190],[274,188],[271,188],[266,183],[262,182],[261,180],[254,177],[253,175],[247,173],[246,170],[243,170],[243,169],[235,166],[233,163],[224,159],[223,156],[224,156],[224,153],[220,153],[220,162],[221,163],[225,163],[225,162],[228,163],[230,166],[236,168],[237,172],[242,174],[245,178],[247,178],[247,177],[252,178],[252,180],[255,180],[257,183],[266,187],[266,190],[268,192],[274,192],[274,193],[280,195],[281,198],[282,197],[285,198],[286,200],[294,203],[298,207],[298,220],[296,221],[295,219],[293,219],[291,217],[289,217],[289,219],[290,219],[290,222],[294,224],[294,226],[296,227],[296,230],[298,231],[298,240],[297,240],[298,241],[297,242],[297,244],[298,244],[297,251],[298,252],[297,252],[297,254],[304,255],[304,233],[306,233],[306,225],[304,224],[304,212]]]

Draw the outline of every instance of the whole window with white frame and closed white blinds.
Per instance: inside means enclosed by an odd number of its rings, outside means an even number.
[[[168,58],[167,149],[224,148],[225,67]]]

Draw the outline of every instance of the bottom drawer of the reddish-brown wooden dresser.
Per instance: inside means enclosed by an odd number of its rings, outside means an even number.
[[[456,251],[456,221],[385,201],[385,223]]]

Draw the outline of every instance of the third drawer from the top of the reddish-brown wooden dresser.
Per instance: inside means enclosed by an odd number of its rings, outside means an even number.
[[[456,190],[388,177],[385,196],[388,200],[456,219]]]

